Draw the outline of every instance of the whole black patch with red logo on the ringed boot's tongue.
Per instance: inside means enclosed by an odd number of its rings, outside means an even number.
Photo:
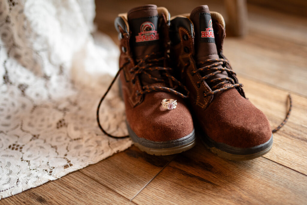
[[[135,36],[136,43],[140,45],[151,44],[159,40],[159,34],[155,26],[158,25],[158,16],[133,19],[133,24],[140,25],[140,27],[136,26],[134,29],[134,34],[138,34]]]

